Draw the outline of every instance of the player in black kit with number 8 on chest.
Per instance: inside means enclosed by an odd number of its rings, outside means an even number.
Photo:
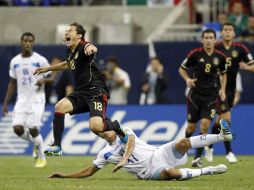
[[[203,47],[192,50],[179,67],[179,74],[186,81],[190,91],[187,98],[188,126],[186,138],[194,133],[197,122],[200,121],[200,133],[207,134],[212,119],[216,114],[216,100],[218,95],[225,99],[226,88],[226,57],[215,50],[216,33],[212,29],[202,33]],[[188,74],[192,68],[193,77]],[[219,72],[218,72],[219,71]],[[221,76],[221,87],[218,77]],[[204,136],[205,138],[205,136]],[[196,150],[192,162],[193,167],[202,167],[201,155],[203,148]]]

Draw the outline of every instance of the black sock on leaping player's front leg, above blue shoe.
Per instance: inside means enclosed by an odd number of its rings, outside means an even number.
[[[53,120],[54,145],[58,145],[61,147],[63,131],[64,131],[64,114],[55,112]]]

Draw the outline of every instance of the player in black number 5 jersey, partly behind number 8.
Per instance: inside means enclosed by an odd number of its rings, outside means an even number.
[[[245,62],[248,65],[254,63],[253,57],[250,51],[241,43],[234,43],[235,27],[231,23],[225,23],[222,25],[221,30],[222,42],[218,43],[215,48],[226,55],[227,64],[227,85],[226,85],[226,99],[220,100],[218,107],[218,117],[213,125],[212,133],[219,133],[219,120],[223,118],[228,123],[231,123],[231,108],[234,106],[234,99],[236,93],[236,77],[239,71],[239,63]],[[247,66],[248,67],[248,66]],[[226,159],[229,163],[237,162],[237,159],[232,151],[231,143],[224,142],[226,149]],[[212,145],[205,148],[205,158],[207,161],[213,161],[213,149]]]

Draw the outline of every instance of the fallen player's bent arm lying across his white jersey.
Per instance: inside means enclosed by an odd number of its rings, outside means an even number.
[[[113,172],[118,171],[119,169],[121,169],[124,166],[124,164],[128,161],[128,159],[132,155],[134,148],[135,148],[135,136],[134,135],[129,135],[128,136],[128,141],[126,143],[126,147],[125,147],[125,152],[124,152],[123,158],[114,167]]]

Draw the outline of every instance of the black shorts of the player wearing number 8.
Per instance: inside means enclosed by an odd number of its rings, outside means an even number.
[[[200,119],[213,120],[216,114],[217,95],[206,96],[190,90],[187,98],[187,120],[197,123]]]

